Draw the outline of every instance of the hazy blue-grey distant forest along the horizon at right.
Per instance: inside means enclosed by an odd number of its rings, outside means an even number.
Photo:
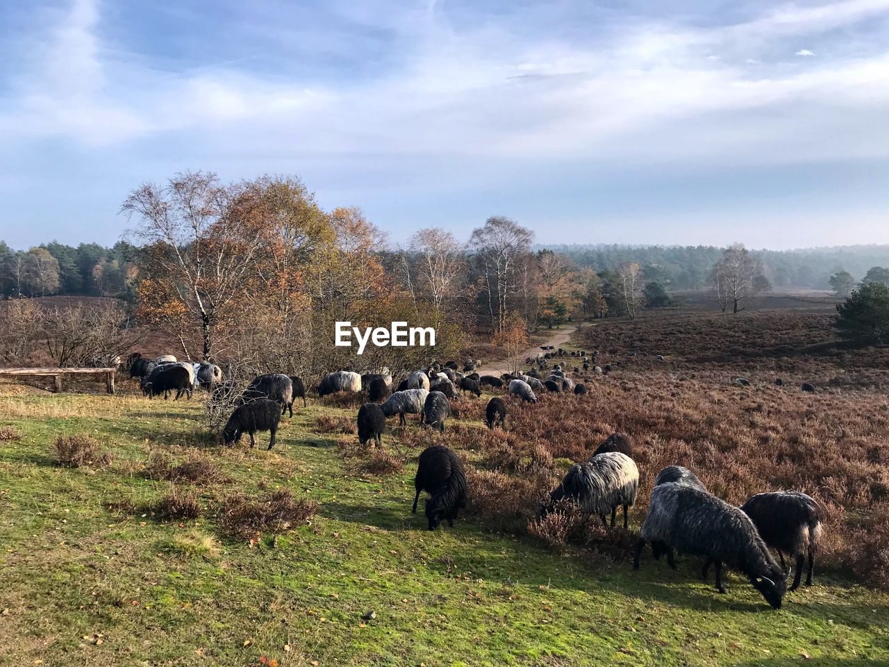
[[[723,249],[712,245],[548,245],[579,267],[605,269],[635,261],[646,275],[670,290],[709,285],[711,269]],[[874,266],[889,266],[889,245],[848,245],[804,250],[757,250],[750,253],[776,287],[829,289],[831,275],[847,271],[861,280]]]

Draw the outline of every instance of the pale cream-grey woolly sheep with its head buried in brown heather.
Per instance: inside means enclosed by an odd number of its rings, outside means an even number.
[[[620,452],[598,454],[568,470],[562,483],[549,494],[549,505],[542,508],[541,516],[546,516],[554,503],[567,498],[577,502],[581,511],[601,518],[603,526],[607,526],[605,516],[611,512],[614,527],[617,508],[622,505],[626,530],[628,510],[636,502],[638,487],[639,470],[629,456]]]

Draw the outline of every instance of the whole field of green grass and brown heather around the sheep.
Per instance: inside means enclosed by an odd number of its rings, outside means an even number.
[[[2,385],[0,664],[885,664],[885,357],[825,345],[824,310],[731,317],[588,325],[575,347],[613,372],[590,374],[587,397],[510,402],[508,433],[480,423],[488,395],[456,401],[444,440],[469,464],[470,507],[434,533],[410,513],[412,473],[441,437],[415,423],[369,455],[356,406],[314,399],[271,452],[227,449],[197,399]],[[541,494],[615,430],[643,478],[630,534],[529,534]],[[81,435],[113,458],[59,465],[57,438]],[[816,495],[829,521],[815,585],[775,612],[740,575],[719,595],[696,559],[633,572],[632,533],[672,462],[733,502]],[[250,539],[238,501],[281,489],[316,514]]]

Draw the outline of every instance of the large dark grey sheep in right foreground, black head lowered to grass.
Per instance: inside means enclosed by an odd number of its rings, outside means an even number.
[[[655,486],[642,533],[636,545],[633,569],[639,569],[639,556],[645,542],[661,542],[667,562],[677,569],[673,550],[707,559],[716,564],[717,591],[725,593],[723,564],[747,575],[749,582],[775,609],[787,590],[787,575],[772,558],[753,521],[739,508],[695,486],[668,482]]]

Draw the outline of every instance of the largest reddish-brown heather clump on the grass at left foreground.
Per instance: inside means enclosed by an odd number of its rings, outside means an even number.
[[[300,526],[315,516],[318,507],[307,498],[296,500],[290,489],[274,491],[258,501],[235,495],[223,502],[220,528],[229,537],[253,539],[264,531],[282,532]]]

